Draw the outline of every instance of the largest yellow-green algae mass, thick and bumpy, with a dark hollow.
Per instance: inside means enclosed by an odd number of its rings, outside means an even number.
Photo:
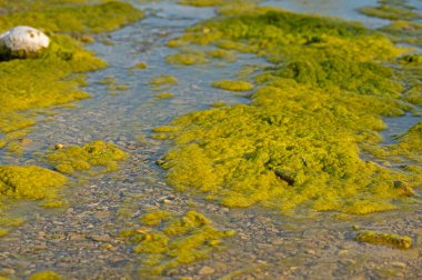
[[[360,157],[363,143],[381,141],[381,116],[411,108],[400,100],[401,76],[388,67],[405,50],[385,37],[358,23],[257,8],[202,22],[182,40],[254,51],[273,66],[257,77],[250,106],[171,123],[167,139],[175,147],[160,164],[177,189],[229,207],[364,214],[396,209],[420,187],[420,170]]]

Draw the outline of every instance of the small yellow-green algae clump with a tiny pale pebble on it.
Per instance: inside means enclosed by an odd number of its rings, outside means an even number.
[[[47,162],[67,174],[87,171],[94,167],[103,168],[102,172],[114,171],[118,169],[118,162],[125,158],[125,152],[118,147],[99,140],[83,147],[64,147],[46,156]]]

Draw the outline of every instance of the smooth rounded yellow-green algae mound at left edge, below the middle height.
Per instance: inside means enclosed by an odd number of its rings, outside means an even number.
[[[30,166],[0,166],[0,194],[10,198],[54,198],[67,178],[58,172]]]

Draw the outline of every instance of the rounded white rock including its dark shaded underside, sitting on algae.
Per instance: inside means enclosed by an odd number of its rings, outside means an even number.
[[[50,39],[31,27],[14,27],[0,34],[0,58],[32,58],[39,56],[50,44]]]

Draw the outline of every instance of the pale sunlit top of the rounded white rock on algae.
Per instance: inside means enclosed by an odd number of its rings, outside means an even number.
[[[0,34],[3,51],[37,52],[49,47],[50,39],[40,30],[31,27],[14,27]]]

